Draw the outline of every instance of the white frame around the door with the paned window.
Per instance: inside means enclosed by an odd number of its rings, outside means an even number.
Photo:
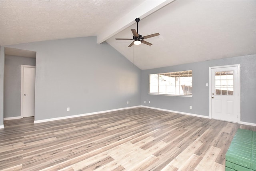
[[[226,66],[214,66],[209,67],[209,116],[212,119],[212,69],[214,68],[226,68],[226,67],[237,67],[238,68],[238,123],[241,122],[241,92],[240,92],[240,64],[226,65]]]

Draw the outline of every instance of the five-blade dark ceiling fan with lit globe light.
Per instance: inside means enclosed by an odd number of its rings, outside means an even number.
[[[123,39],[123,38],[116,38],[116,40],[134,40],[128,47],[131,47],[132,45],[139,45],[141,43],[143,44],[147,44],[149,46],[151,46],[152,44],[150,42],[146,42],[144,39],[148,39],[148,38],[152,38],[154,36],[159,36],[159,33],[155,33],[155,34],[150,34],[148,36],[141,36],[140,34],[138,34],[138,22],[140,21],[140,18],[136,18],[135,21],[137,22],[137,32],[136,29],[131,29],[132,30],[132,39]]]

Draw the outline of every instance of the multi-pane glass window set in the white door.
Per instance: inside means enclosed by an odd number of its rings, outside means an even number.
[[[233,95],[234,76],[233,71],[215,72],[215,94]]]

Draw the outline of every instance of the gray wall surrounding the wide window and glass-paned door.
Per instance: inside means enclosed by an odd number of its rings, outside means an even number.
[[[209,67],[232,64],[240,64],[241,67],[241,121],[256,123],[256,55],[224,58],[219,60],[143,70],[141,104],[161,109],[209,116],[209,87],[206,87],[206,83],[209,83]],[[149,74],[183,70],[192,70],[193,97],[148,94]],[[146,101],[146,104],[144,104],[144,101]],[[148,103],[148,101],[150,101],[150,103]],[[192,109],[189,109],[190,105],[192,105]]]

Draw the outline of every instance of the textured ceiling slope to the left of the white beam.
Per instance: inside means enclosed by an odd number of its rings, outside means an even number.
[[[1,0],[0,45],[96,36],[143,0]]]

